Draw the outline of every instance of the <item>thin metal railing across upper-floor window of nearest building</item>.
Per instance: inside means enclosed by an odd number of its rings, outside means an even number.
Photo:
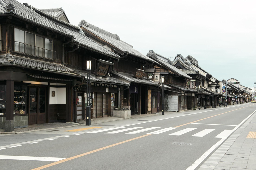
[[[40,57],[46,59],[54,59],[56,51],[28,45],[22,42],[14,42],[14,52],[19,54],[26,54],[33,57]]]

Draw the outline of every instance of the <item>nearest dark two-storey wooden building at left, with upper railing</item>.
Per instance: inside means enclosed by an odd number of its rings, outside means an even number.
[[[103,100],[91,99],[100,105],[97,114],[102,116],[105,109],[110,115],[112,92],[127,85],[110,77],[110,69],[104,69],[104,76],[94,77],[100,63],[105,67],[109,63],[111,68],[119,56],[62,19],[27,3],[0,1],[0,128],[7,132],[31,124],[82,119],[88,59],[92,60],[92,89],[97,89],[91,96],[109,88],[108,96],[96,94],[96,99]],[[81,109],[77,105],[79,92],[83,93]]]

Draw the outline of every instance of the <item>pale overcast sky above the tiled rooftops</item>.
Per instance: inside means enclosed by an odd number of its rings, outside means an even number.
[[[191,55],[218,80],[235,78],[250,88],[256,82],[255,0],[18,1],[62,7],[71,24],[84,19],[145,55]]]

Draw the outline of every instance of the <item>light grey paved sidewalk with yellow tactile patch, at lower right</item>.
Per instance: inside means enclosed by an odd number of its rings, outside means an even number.
[[[256,169],[256,112],[198,170]]]

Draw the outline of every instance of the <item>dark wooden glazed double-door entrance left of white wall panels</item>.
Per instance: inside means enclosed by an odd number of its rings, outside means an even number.
[[[29,88],[28,125],[46,123],[46,89]]]

